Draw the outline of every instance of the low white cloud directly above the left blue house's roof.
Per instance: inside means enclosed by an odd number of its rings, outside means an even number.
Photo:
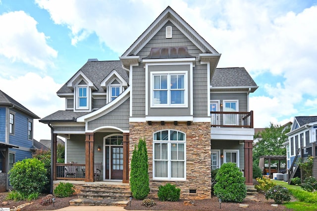
[[[0,78],[0,89],[40,118],[65,109],[64,99],[56,95],[56,90],[61,86],[62,84],[56,84],[51,77],[42,78],[35,73],[27,73],[17,78]],[[51,139],[50,127],[34,120],[34,138]]]

